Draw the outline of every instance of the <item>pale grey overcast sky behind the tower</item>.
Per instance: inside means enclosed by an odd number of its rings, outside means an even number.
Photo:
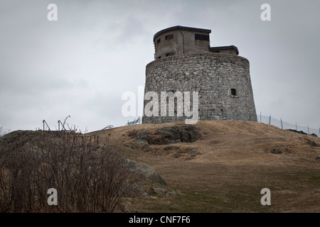
[[[48,4],[58,21],[48,21]],[[262,21],[261,5],[271,6]],[[124,126],[122,94],[138,94],[153,35],[210,29],[210,46],[235,45],[250,61],[257,114],[320,127],[320,1],[1,0],[0,126]],[[137,101],[139,101],[137,99]],[[142,100],[140,100],[142,101]]]

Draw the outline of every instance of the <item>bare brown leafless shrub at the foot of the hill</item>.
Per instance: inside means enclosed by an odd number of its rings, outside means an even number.
[[[119,148],[76,144],[78,133],[35,131],[0,143],[1,212],[115,212],[139,176]],[[47,191],[57,189],[58,206]]]

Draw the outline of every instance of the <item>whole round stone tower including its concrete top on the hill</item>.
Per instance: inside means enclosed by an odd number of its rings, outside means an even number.
[[[197,93],[198,105],[191,95],[190,109],[198,109],[200,121],[257,121],[249,61],[238,56],[238,48],[233,45],[211,48],[210,33],[208,29],[174,26],[154,35],[154,61],[146,65],[144,94],[156,92],[159,96],[144,97],[142,123],[185,121],[188,116],[177,112],[181,103],[177,101],[178,92]],[[161,99],[161,92],[167,94],[165,99]],[[161,104],[170,96],[176,97],[171,111],[174,116],[161,113]],[[148,103],[153,99],[158,99],[159,114],[146,115]],[[170,113],[169,109],[168,104],[166,113]]]

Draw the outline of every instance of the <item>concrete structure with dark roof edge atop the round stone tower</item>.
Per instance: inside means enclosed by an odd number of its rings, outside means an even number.
[[[174,26],[154,35],[154,59],[173,55],[221,52],[238,55],[234,45],[210,48],[210,29]]]

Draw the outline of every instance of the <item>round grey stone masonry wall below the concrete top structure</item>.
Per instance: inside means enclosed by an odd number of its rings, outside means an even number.
[[[235,89],[235,96],[231,89]],[[198,120],[257,121],[249,61],[237,55],[198,53],[154,60],[146,65],[144,93],[149,91],[159,94],[159,116],[144,116],[142,123],[191,118],[184,114],[182,117],[161,116],[160,94],[169,91],[198,92]],[[192,109],[192,95],[190,100]],[[144,101],[144,106],[148,102]]]

